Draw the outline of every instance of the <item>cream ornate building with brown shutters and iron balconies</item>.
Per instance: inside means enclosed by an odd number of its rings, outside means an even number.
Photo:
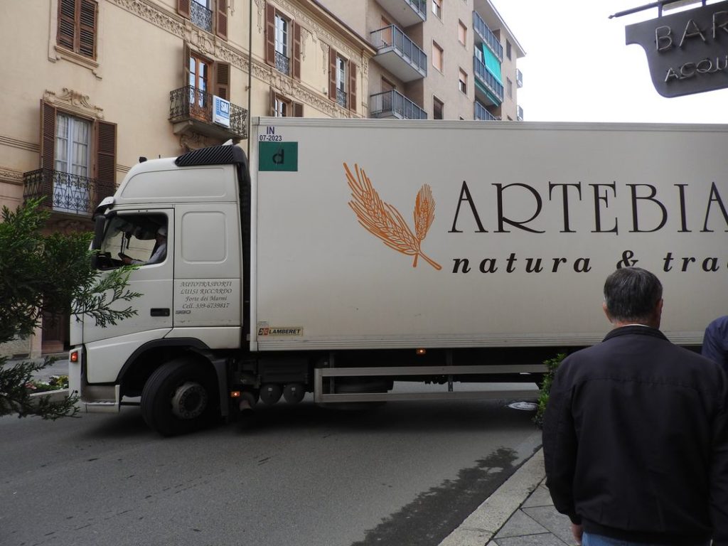
[[[142,157],[242,141],[249,116],[367,117],[376,50],[314,0],[7,0],[0,206],[90,230]],[[44,321],[5,355],[56,352]]]

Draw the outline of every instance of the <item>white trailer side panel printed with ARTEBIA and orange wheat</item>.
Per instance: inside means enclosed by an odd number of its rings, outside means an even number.
[[[258,119],[253,349],[585,345],[606,276],[724,314],[727,126]]]

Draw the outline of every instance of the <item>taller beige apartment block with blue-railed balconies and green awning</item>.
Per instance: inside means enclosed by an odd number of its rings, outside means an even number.
[[[376,48],[371,117],[523,119],[525,52],[490,0],[320,2]]]

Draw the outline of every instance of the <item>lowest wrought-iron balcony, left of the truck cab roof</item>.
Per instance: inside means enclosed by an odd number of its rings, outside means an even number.
[[[90,217],[101,199],[109,195],[114,195],[114,185],[95,178],[52,169],[23,173],[23,200],[45,197],[41,207],[54,212]]]

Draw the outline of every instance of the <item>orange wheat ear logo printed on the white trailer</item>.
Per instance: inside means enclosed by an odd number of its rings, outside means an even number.
[[[369,233],[379,237],[389,248],[394,248],[407,256],[414,256],[413,267],[417,266],[417,260],[422,256],[422,259],[435,269],[443,269],[440,264],[425,256],[421,249],[422,241],[427,237],[427,230],[435,220],[435,199],[432,198],[430,186],[423,184],[417,192],[414,202],[414,233],[412,233],[399,211],[379,198],[369,177],[359,165],[354,165],[356,177],[352,175],[346,163],[344,170],[347,172],[349,188],[352,189],[354,198],[349,201],[349,207],[352,207],[359,223]]]

